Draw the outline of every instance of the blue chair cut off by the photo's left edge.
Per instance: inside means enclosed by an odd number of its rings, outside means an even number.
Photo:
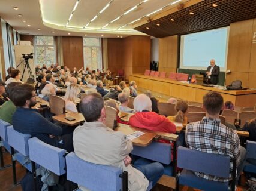
[[[2,154],[2,146],[5,147],[6,150],[8,150],[9,153],[11,153],[11,147],[7,143],[7,127],[10,126],[11,124],[2,121],[0,119],[0,167],[4,168],[4,157]]]

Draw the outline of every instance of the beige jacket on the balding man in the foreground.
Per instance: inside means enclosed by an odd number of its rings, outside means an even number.
[[[144,191],[149,181],[131,165],[125,167],[124,158],[132,151],[131,141],[125,134],[115,132],[101,122],[85,122],[74,130],[74,152],[88,162],[112,165],[128,172],[128,190]],[[80,186],[81,190],[87,190]]]

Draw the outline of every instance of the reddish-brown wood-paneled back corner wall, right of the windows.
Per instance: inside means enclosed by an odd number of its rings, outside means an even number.
[[[132,73],[144,73],[150,67],[150,36],[128,36],[127,38],[109,38],[108,67],[117,73],[125,71],[125,79]]]

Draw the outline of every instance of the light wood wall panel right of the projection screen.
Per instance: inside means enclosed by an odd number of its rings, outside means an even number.
[[[226,75],[226,85],[240,79],[242,87],[256,88],[256,43],[252,42],[254,32],[256,19],[230,24],[227,69],[231,73]]]

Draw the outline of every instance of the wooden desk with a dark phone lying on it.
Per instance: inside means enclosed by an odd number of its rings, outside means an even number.
[[[72,117],[72,118],[75,118],[76,120],[68,121],[67,119],[65,119],[66,117]],[[82,113],[76,113],[76,112],[68,112],[62,115],[55,115],[52,117],[52,119],[54,121],[58,121],[61,124],[68,125],[68,126],[79,125],[81,124],[81,122],[85,121],[85,118],[83,117]]]

